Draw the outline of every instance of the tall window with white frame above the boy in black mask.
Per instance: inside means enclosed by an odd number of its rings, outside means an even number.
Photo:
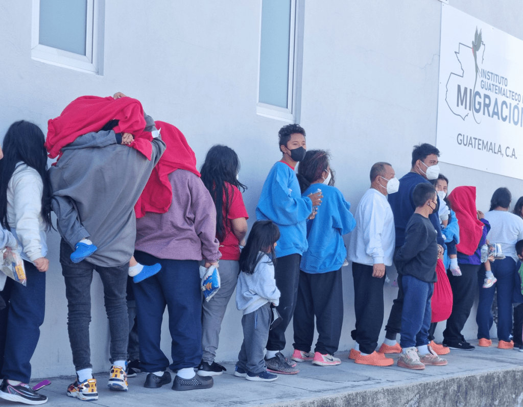
[[[299,121],[302,0],[262,0],[256,112]]]

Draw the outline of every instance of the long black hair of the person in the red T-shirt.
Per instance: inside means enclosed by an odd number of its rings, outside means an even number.
[[[233,149],[226,145],[213,145],[207,152],[205,162],[200,168],[201,180],[211,193],[214,206],[216,207],[216,235],[220,242],[225,239],[225,226],[230,227],[229,210],[233,196],[229,196],[229,189],[224,188],[225,183],[242,188],[247,187],[236,178],[240,172],[240,160]],[[234,194],[234,191],[233,191]],[[224,213],[225,212],[225,217]]]

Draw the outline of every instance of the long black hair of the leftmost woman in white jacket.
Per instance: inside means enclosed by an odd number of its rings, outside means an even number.
[[[0,223],[4,229],[11,230],[7,222],[7,184],[20,161],[36,169],[42,178],[41,213],[48,229],[51,228],[52,188],[47,173],[47,151],[43,145],[45,141],[42,130],[29,121],[15,121],[7,129],[2,143],[4,158],[0,160]]]

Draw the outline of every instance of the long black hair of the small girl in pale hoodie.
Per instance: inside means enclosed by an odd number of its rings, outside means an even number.
[[[275,263],[274,244],[279,238],[280,230],[276,223],[270,220],[254,222],[247,243],[240,254],[240,270],[247,274],[253,274],[264,253],[269,255],[272,263]]]

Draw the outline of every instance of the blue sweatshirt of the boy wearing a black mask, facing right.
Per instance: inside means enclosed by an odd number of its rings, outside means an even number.
[[[310,198],[302,197],[291,167],[278,161],[270,169],[256,207],[257,220],[271,220],[280,228],[276,257],[307,250],[305,220],[312,212]]]

